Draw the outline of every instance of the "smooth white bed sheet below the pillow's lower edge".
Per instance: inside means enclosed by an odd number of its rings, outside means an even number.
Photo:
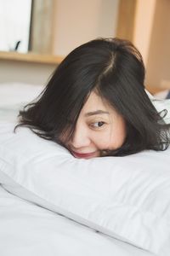
[[[0,186],[1,256],[151,256],[9,194]]]

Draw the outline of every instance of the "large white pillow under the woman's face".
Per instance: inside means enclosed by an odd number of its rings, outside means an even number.
[[[170,252],[170,149],[75,159],[0,125],[0,183],[14,195],[153,253]]]

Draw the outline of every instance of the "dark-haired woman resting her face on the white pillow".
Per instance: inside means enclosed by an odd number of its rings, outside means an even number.
[[[95,39],[67,55],[37,102],[20,111],[19,125],[85,159],[170,143],[170,125],[144,90],[142,56],[118,38]]]

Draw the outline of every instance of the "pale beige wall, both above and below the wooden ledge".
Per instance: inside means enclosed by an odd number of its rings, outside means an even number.
[[[116,33],[119,0],[57,0],[54,54],[67,55],[71,49],[92,38]],[[56,65],[0,60],[0,83],[46,84]]]

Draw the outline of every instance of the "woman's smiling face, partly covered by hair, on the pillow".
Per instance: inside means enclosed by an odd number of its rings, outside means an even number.
[[[76,158],[90,159],[100,156],[102,150],[121,147],[125,137],[122,116],[92,92],[79,115],[75,132],[65,146]]]

